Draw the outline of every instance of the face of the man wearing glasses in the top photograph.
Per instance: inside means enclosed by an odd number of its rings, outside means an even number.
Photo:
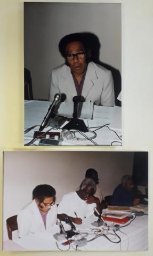
[[[76,54],[82,52],[85,52],[85,49],[83,44],[80,42],[72,42],[66,46],[66,56],[68,54]],[[85,58],[79,59],[77,58],[77,56],[75,56],[73,60],[67,59],[68,65],[71,69],[71,73],[73,73],[74,76],[79,76],[84,73],[84,70],[87,66],[85,60]]]

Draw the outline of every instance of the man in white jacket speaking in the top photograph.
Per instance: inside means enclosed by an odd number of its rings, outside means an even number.
[[[53,69],[49,99],[56,93],[64,94],[66,102],[81,95],[85,101],[95,105],[114,106],[114,82],[111,72],[90,61],[90,49],[82,33],[65,36],[59,43],[61,55],[66,63]]]

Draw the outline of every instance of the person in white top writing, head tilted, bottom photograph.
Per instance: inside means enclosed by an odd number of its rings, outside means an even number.
[[[101,213],[101,204],[97,197],[93,196],[96,184],[92,179],[84,179],[78,191],[73,191],[63,196],[58,206],[58,218],[81,224],[82,220],[94,213],[94,207]]]

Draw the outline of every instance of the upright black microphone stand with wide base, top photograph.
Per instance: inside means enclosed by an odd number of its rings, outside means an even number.
[[[66,130],[79,130],[82,132],[88,132],[88,129],[84,121],[82,119],[77,118],[79,97],[75,96],[73,98],[73,102],[74,102],[73,119],[71,119],[71,121],[68,124],[66,124],[64,127],[62,127],[62,130],[66,129]]]

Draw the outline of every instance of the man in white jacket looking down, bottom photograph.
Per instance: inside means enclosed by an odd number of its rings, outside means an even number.
[[[50,185],[38,185],[33,190],[33,201],[18,214],[19,237],[50,230],[57,221],[55,189]]]

